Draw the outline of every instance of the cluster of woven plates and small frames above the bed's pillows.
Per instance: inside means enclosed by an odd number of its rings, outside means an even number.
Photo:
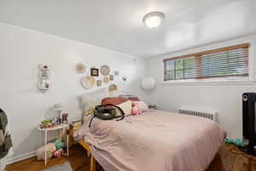
[[[78,73],[86,73],[87,67],[79,63],[76,65],[76,71]],[[81,78],[82,86],[85,89],[90,89],[94,87],[102,87],[104,84],[108,84],[113,82],[114,77],[119,76],[119,71],[113,71],[113,74],[110,74],[111,70],[108,65],[103,65],[100,68],[91,67],[90,68],[90,75],[84,76]],[[109,91],[117,90],[117,85],[111,84],[109,86]]]

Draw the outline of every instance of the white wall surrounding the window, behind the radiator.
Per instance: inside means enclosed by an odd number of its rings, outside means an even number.
[[[255,83],[163,83],[163,59],[183,54],[201,52],[211,48],[226,47],[239,43],[251,43],[251,62],[255,59],[256,37],[242,37],[223,43],[215,43],[201,48],[166,54],[148,60],[148,76],[158,85],[148,93],[149,102],[156,103],[160,109],[177,111],[181,105],[218,111],[218,121],[228,135],[241,138],[241,94],[255,92]],[[251,75],[255,72],[251,66]],[[254,79],[254,77],[253,77]],[[255,79],[254,79],[255,80]]]

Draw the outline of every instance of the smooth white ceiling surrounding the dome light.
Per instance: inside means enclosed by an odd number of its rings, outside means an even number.
[[[0,21],[151,57],[256,33],[256,0],[0,0]]]

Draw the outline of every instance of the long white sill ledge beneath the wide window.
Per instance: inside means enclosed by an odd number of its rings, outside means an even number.
[[[172,86],[190,86],[190,85],[253,85],[256,81],[253,80],[177,80],[166,81],[161,84]]]

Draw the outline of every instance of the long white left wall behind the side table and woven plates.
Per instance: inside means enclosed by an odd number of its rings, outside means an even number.
[[[62,102],[67,107],[70,120],[80,118],[76,98],[87,90],[80,84],[86,74],[75,71],[79,62],[88,67],[109,65],[112,73],[118,70],[120,76],[115,77],[115,83],[119,89],[143,99],[139,80],[145,73],[144,60],[0,23],[0,107],[9,116],[15,157],[30,155],[38,148],[36,128],[55,103]],[[38,92],[36,86],[40,63],[51,67],[52,89],[46,94]],[[123,76],[127,77],[126,82],[121,79]]]

